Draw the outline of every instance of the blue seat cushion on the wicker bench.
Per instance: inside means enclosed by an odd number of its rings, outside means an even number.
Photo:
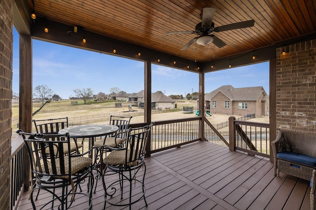
[[[285,159],[291,162],[301,163],[304,165],[316,167],[316,157],[306,154],[295,153],[291,151],[281,151],[276,154],[278,158]]]

